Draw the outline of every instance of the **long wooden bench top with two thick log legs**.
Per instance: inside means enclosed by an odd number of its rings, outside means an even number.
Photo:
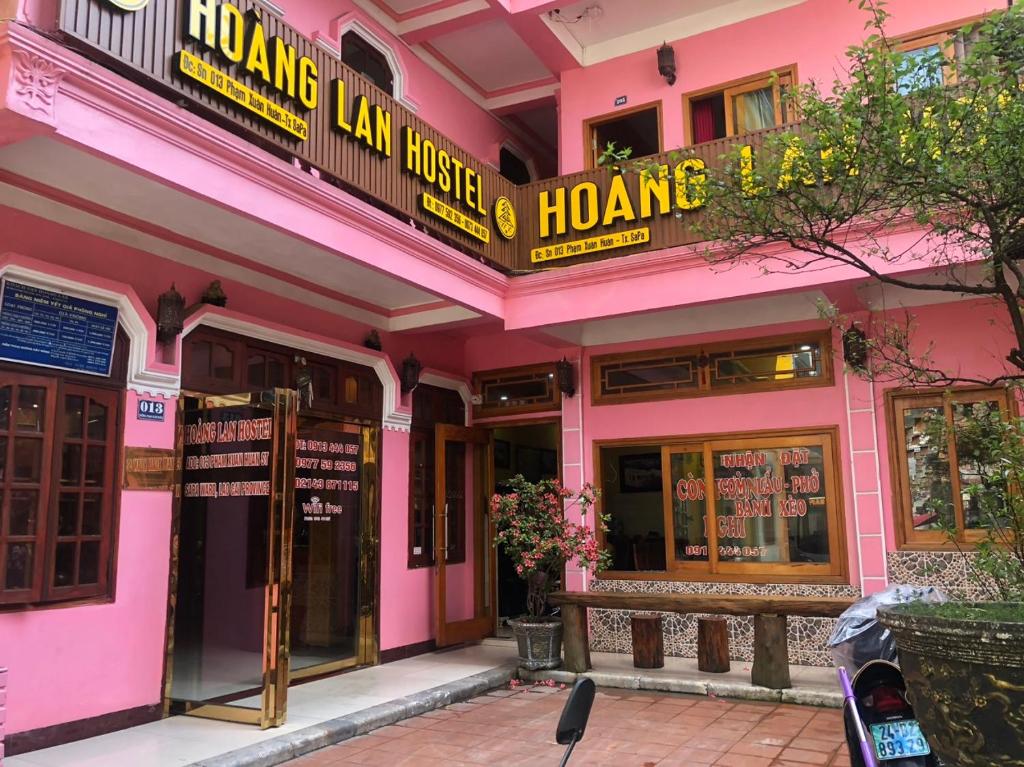
[[[751,682],[780,690],[792,687],[786,617],[838,617],[853,599],[831,597],[744,597],[711,594],[634,594],[615,591],[557,591],[551,604],[562,608],[565,668],[578,674],[590,670],[587,608],[643,610],[712,615],[754,616],[754,666]]]

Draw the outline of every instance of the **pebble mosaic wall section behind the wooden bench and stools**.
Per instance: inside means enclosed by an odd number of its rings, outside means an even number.
[[[810,584],[718,584],[689,581],[611,581],[598,579],[594,591],[628,593],[676,592],[733,596],[860,597],[853,586]],[[729,616],[729,652],[740,663],[754,661],[754,619]],[[802,666],[831,666],[828,637],[836,622],[829,617],[791,617],[790,662]],[[696,657],[697,615],[662,613],[665,653]],[[597,652],[632,652],[629,610],[590,610],[590,646]]]

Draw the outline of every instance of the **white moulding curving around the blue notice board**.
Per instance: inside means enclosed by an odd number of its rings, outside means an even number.
[[[9,258],[4,254],[2,258]],[[129,286],[119,286],[117,291],[97,288],[90,285],[87,274],[79,279],[57,276],[46,271],[22,266],[16,263],[6,263],[0,266],[0,276],[16,280],[43,290],[52,290],[69,296],[84,298],[89,301],[110,304],[118,309],[118,323],[128,335],[128,388],[139,394],[152,396],[174,397],[181,389],[181,379],[177,372],[153,370],[147,367],[146,355],[150,349],[151,333],[156,334],[156,325],[150,317],[143,318],[136,309],[138,297]],[[138,302],[141,304],[141,302]],[[145,321],[148,319],[148,323]]]

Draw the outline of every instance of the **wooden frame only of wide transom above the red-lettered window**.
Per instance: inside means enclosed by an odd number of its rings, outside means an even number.
[[[638,392],[635,394],[603,394],[601,393],[602,366],[611,363],[628,363],[631,360],[657,359],[658,357],[711,357],[727,351],[751,351],[759,348],[772,348],[811,343],[818,344],[821,359],[821,375],[793,378],[783,381],[768,381],[764,383],[746,383],[737,385],[711,385],[709,366],[698,366],[696,388],[671,389],[665,391]],[[835,384],[835,364],[833,359],[833,338],[829,331],[814,331],[812,333],[796,333],[781,336],[765,336],[763,338],[744,339],[742,341],[724,341],[710,344],[694,344],[692,346],[673,346],[664,349],[645,349],[642,351],[598,354],[590,358],[591,403],[626,404],[632,402],[659,401],[664,399],[688,399],[702,396],[726,396],[729,394],[746,394],[764,391],[785,391],[787,389],[817,388]]]

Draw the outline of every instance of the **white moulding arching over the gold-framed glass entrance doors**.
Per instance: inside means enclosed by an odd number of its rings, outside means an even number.
[[[204,307],[185,321],[184,330],[181,331],[183,339],[194,330],[200,327],[216,328],[227,333],[236,333],[247,338],[258,338],[261,341],[286,346],[292,349],[301,349],[311,354],[343,359],[347,363],[355,363],[367,368],[373,368],[384,387],[384,403],[381,413],[381,425],[385,429],[392,431],[409,431],[413,425],[413,414],[403,413],[397,409],[398,406],[398,377],[394,368],[391,367],[387,356],[381,352],[364,349],[358,346],[351,346],[342,343],[332,343],[310,338],[297,331],[291,333],[276,328],[268,328],[252,319],[229,313],[226,310],[213,306]]]

